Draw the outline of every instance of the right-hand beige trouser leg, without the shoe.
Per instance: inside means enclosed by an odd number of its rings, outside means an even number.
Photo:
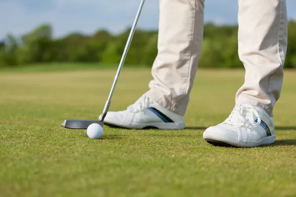
[[[246,74],[236,103],[262,107],[272,116],[287,50],[286,0],[239,0],[239,6],[238,52]]]

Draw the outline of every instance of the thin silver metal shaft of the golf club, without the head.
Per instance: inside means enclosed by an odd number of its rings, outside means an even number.
[[[112,84],[112,87],[111,87],[111,91],[110,91],[109,97],[108,97],[108,99],[106,101],[106,104],[104,106],[104,109],[103,109],[101,121],[104,121],[104,119],[105,119],[105,117],[107,115],[107,112],[109,110],[109,107],[110,107],[110,104],[111,104],[111,98],[113,96],[113,92],[114,92],[114,89],[116,87],[116,83],[118,81],[119,73],[120,73],[121,68],[123,66],[123,63],[125,61],[125,58],[126,58],[126,55],[127,55],[128,49],[129,49],[129,46],[131,44],[131,41],[133,39],[133,36],[134,36],[135,30],[136,30],[136,27],[137,27],[137,24],[138,24],[138,21],[139,21],[139,18],[140,18],[140,15],[141,15],[141,12],[142,12],[142,8],[143,8],[144,3],[145,3],[145,0],[142,0],[141,1],[141,4],[140,4],[140,7],[138,9],[138,12],[137,12],[137,15],[136,15],[134,24],[132,26],[131,32],[130,32],[130,34],[128,36],[128,39],[127,39],[127,42],[126,42],[126,45],[125,45],[125,48],[124,48],[124,51],[123,51],[123,54],[122,54],[122,57],[121,57],[121,60],[120,60],[118,69],[117,69],[117,72],[116,72],[116,75],[114,77],[114,81],[113,81],[113,84]]]

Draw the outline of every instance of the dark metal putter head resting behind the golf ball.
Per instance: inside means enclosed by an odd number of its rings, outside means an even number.
[[[97,123],[103,127],[104,122],[102,120],[65,120],[62,123],[62,127],[67,129],[87,129],[89,125]]]

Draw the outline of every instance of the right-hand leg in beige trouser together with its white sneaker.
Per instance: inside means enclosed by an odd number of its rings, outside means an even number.
[[[236,106],[203,137],[213,144],[258,146],[275,141],[272,109],[280,97],[287,50],[286,0],[238,0],[238,53],[245,83]]]

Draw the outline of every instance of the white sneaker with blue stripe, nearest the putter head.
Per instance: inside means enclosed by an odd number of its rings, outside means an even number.
[[[142,96],[128,106],[127,110],[108,112],[104,124],[126,129],[179,130],[185,128],[183,116],[161,107],[146,96]]]

